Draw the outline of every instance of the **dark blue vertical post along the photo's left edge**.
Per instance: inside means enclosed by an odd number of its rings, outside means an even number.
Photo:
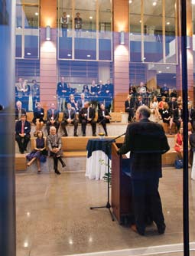
[[[0,255],[16,255],[15,0],[0,2]]]

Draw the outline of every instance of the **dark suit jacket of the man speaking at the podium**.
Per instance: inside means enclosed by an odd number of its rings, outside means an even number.
[[[132,179],[160,178],[161,154],[169,149],[161,124],[143,119],[128,125],[119,153],[131,151]]]

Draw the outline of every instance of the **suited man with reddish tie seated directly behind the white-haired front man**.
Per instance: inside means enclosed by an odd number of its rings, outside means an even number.
[[[55,103],[51,103],[50,109],[47,110],[47,121],[46,121],[47,134],[50,134],[50,126],[56,127],[57,131],[60,126],[59,111],[56,109]]]

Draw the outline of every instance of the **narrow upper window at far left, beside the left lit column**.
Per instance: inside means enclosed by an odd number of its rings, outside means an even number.
[[[38,58],[39,0],[17,1],[15,29],[15,57]]]

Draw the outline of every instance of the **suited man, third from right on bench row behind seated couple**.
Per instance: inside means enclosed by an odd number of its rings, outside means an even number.
[[[67,109],[63,111],[63,119],[61,126],[63,129],[63,136],[68,136],[66,126],[68,124],[73,124],[74,126],[74,136],[77,135],[78,120],[76,120],[76,111],[71,107],[71,103],[67,103]]]

